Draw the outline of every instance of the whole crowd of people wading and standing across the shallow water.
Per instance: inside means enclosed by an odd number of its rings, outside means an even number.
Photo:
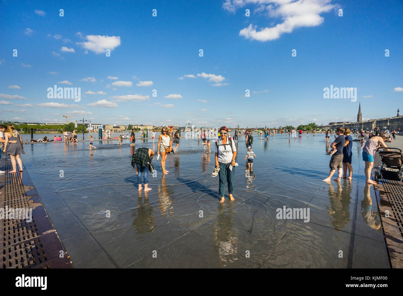
[[[3,134],[4,133],[4,134]],[[274,135],[274,131],[270,129],[262,129],[259,130],[258,135],[260,137],[264,136],[264,141],[267,141],[270,135]],[[333,136],[333,132],[331,130],[325,131],[302,131],[302,130],[288,130],[287,131],[288,138],[297,138],[297,134],[299,137],[302,137],[303,134],[312,136],[322,134],[324,135],[324,140],[326,143],[330,142],[330,138]],[[389,131],[381,132],[378,127],[375,128],[374,132],[366,133],[365,131],[359,132],[351,132],[349,128],[345,127],[337,127],[334,132],[334,141],[330,144],[330,150],[328,155],[331,155],[329,168],[330,172],[326,179],[323,181],[330,182],[332,176],[336,172],[337,169],[337,178],[333,179],[334,181],[340,182],[341,179],[347,179],[351,181],[353,179],[353,164],[352,164],[352,146],[353,141],[360,141],[361,146],[363,146],[362,159],[365,161],[365,176],[366,183],[376,184],[375,181],[371,180],[371,169],[374,165],[374,154],[379,147],[384,147],[387,150],[386,142],[391,142],[395,139],[396,131],[394,130],[392,133]],[[353,140],[351,135],[361,136],[360,139]],[[63,133],[64,142],[77,142],[77,134],[74,129],[73,132],[67,132],[66,130]],[[106,138],[112,138],[113,134],[111,132],[104,132],[103,140]],[[219,196],[221,197],[221,203],[224,202],[224,191],[225,186],[228,187],[229,198],[231,201],[233,198],[233,187],[234,187],[234,174],[235,174],[235,166],[238,164],[235,162],[235,158],[237,156],[237,146],[235,145],[240,136],[245,136],[245,158],[246,160],[246,171],[250,171],[253,175],[253,159],[256,158],[256,154],[252,150],[253,145],[253,131],[252,129],[235,129],[233,131],[233,136],[231,136],[229,129],[226,126],[220,127],[218,129],[218,133],[216,131],[211,130],[210,133],[206,131],[206,129],[202,129],[200,133],[195,134],[195,138],[198,141],[202,140],[202,147],[207,153],[211,153],[211,142],[210,139],[214,140],[214,160],[215,166],[212,172],[212,177],[216,177],[218,175],[219,179]],[[367,137],[367,138],[366,138]],[[93,137],[89,136],[89,148],[96,149],[96,146],[93,146]],[[147,139],[147,133],[142,132],[140,136],[141,140]],[[156,138],[155,130],[152,131],[151,138],[154,140]],[[122,144],[122,140],[129,139],[130,146],[135,146],[136,136],[135,130],[133,129],[131,135],[127,134],[126,136],[121,134],[119,137],[114,137],[113,139],[118,140],[118,145]],[[173,130],[172,127],[168,129],[168,127],[162,127],[160,131],[160,135],[158,135],[158,146],[157,146],[157,160],[161,158],[161,169],[162,173],[168,174],[169,171],[166,170],[166,159],[168,154],[174,154],[177,152],[181,141],[181,131],[180,129]],[[365,141],[366,140],[366,141]],[[47,136],[43,139],[33,140],[31,142],[48,142]],[[54,136],[53,141],[62,141],[62,137]],[[364,143],[365,142],[365,143]],[[3,152],[7,152],[10,155],[11,163],[12,163],[12,171],[9,173],[17,172],[17,162],[19,164],[19,171],[22,171],[22,162],[20,158],[20,154],[25,154],[23,140],[21,139],[21,135],[15,130],[13,125],[0,125],[0,143],[4,143]],[[0,144],[1,145],[1,144]],[[328,145],[328,144],[327,144]],[[149,148],[138,148],[132,155],[132,166],[137,174],[137,183],[139,185],[139,190],[142,190],[142,184],[144,184],[144,190],[151,190],[148,187],[148,172],[151,173],[154,171],[154,166],[152,164],[152,159],[155,155],[154,150]],[[1,157],[1,154],[0,154]],[[343,173],[344,172],[344,173]],[[0,171],[0,173],[4,173]],[[348,173],[348,174],[347,174]]]

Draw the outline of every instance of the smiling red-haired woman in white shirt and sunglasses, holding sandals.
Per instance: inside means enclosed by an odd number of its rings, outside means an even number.
[[[218,174],[220,179],[219,195],[221,197],[220,203],[225,201],[225,181],[228,183],[228,193],[231,201],[234,200],[232,196],[234,192],[234,175],[235,175],[235,156],[237,156],[237,148],[231,138],[228,138],[228,128],[226,126],[220,127],[220,138],[216,140],[216,167],[213,170],[212,176]]]

